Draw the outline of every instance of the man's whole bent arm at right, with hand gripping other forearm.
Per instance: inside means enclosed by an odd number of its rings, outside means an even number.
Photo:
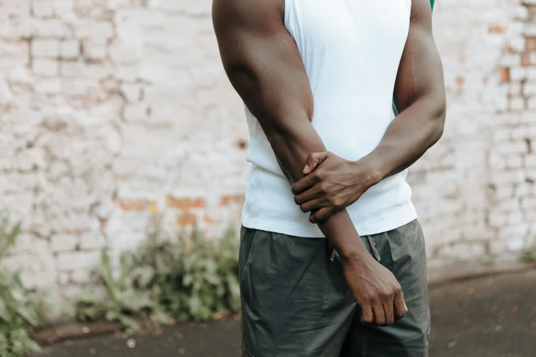
[[[443,133],[446,98],[443,68],[432,34],[429,0],[413,0],[409,34],[394,88],[400,114],[387,127],[380,144],[358,161],[333,153],[309,156],[305,178],[292,186],[302,211],[316,211],[322,222],[348,207],[367,189],[417,161]]]

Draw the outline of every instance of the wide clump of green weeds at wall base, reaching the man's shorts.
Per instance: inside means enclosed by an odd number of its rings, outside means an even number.
[[[211,241],[199,230],[166,237],[153,228],[137,252],[121,256],[112,278],[107,254],[99,267],[106,295],[84,294],[75,304],[82,320],[105,317],[136,330],[151,323],[203,321],[240,309],[238,239],[233,230]]]

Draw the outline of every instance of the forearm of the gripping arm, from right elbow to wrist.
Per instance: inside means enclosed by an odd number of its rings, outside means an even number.
[[[380,144],[360,161],[374,171],[377,181],[397,174],[439,140],[444,122],[444,100],[422,97],[394,118]]]

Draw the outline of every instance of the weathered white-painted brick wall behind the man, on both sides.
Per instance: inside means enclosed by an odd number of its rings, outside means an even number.
[[[209,235],[238,226],[248,133],[210,3],[0,0],[0,207],[24,222],[4,263],[29,287],[71,295],[154,215]],[[448,120],[409,181],[444,266],[536,235],[536,12],[435,6]]]

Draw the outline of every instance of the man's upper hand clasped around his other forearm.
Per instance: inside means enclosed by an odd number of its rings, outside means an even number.
[[[303,212],[313,212],[318,223],[357,201],[379,175],[364,161],[348,161],[330,153],[312,153],[303,169],[306,176],[292,185],[294,202]]]

